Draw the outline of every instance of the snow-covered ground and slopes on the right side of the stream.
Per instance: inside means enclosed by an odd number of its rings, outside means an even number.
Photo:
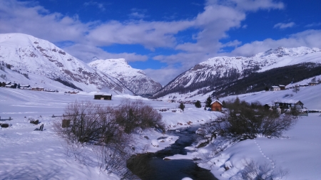
[[[317,76],[317,78],[320,78]],[[310,82],[303,80],[297,84]],[[308,110],[321,112],[321,84],[301,87],[297,93],[292,90],[254,92],[238,96],[223,97],[220,100],[240,100],[246,102],[272,103],[276,100],[300,100]],[[186,96],[187,97],[187,96]],[[188,97],[185,100],[206,99],[204,96]],[[180,97],[178,97],[179,99]],[[184,97],[182,98],[184,99]],[[245,166],[245,159],[253,160],[260,168],[267,168],[277,172],[283,169],[288,173],[282,179],[315,180],[320,179],[320,150],[321,150],[321,115],[320,112],[310,113],[299,117],[297,124],[283,134],[281,138],[257,137],[229,145],[227,149],[213,155],[214,145],[188,152],[187,155],[176,154],[168,159],[201,159],[199,166],[210,169],[220,180],[243,180],[241,172]],[[215,139],[213,143],[220,142]],[[195,149],[195,147],[188,147]],[[225,168],[226,167],[226,168]],[[277,179],[277,178],[275,178]]]

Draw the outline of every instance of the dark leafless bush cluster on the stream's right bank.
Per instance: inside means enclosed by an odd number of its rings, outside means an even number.
[[[236,98],[226,102],[228,112],[218,117],[210,124],[210,132],[221,136],[253,139],[258,134],[265,137],[280,137],[282,132],[290,129],[297,122],[297,117],[291,114],[280,115],[277,111],[267,110],[260,102],[242,101]]]

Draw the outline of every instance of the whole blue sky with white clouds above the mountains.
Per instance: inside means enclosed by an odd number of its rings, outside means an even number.
[[[46,39],[85,62],[126,58],[165,85],[219,55],[321,48],[321,1],[0,0],[0,33]]]

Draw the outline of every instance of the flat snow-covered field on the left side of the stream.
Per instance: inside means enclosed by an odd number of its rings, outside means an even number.
[[[0,123],[9,123],[9,128],[0,129],[0,179],[119,179],[115,174],[106,174],[98,170],[95,153],[91,148],[83,149],[86,157],[75,161],[68,157],[63,148],[65,142],[56,136],[52,123],[59,120],[53,115],[62,115],[68,103],[91,101],[103,105],[117,106],[125,98],[142,99],[156,109],[169,109],[161,112],[168,129],[188,127],[192,122],[197,125],[215,119],[216,112],[196,109],[186,105],[180,112],[178,103],[146,100],[131,95],[113,95],[113,100],[93,100],[93,93],[64,95],[57,92],[36,92],[30,90],[15,90],[0,88]],[[176,112],[172,112],[176,110]],[[26,118],[25,118],[26,117]],[[39,125],[29,123],[28,119],[39,120]],[[44,131],[34,131],[44,125]],[[156,152],[177,139],[168,137],[165,142],[157,140],[163,136],[160,132],[146,130],[136,135],[136,142],[129,144],[136,151]],[[144,136],[149,137],[146,139]],[[154,147],[153,145],[158,145]]]

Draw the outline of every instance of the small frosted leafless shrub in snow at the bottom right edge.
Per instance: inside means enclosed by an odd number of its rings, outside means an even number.
[[[245,180],[280,180],[288,174],[287,169],[275,168],[275,163],[260,166],[253,159],[243,160],[244,169],[240,175]]]

